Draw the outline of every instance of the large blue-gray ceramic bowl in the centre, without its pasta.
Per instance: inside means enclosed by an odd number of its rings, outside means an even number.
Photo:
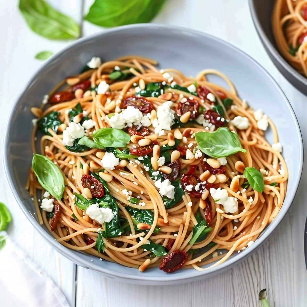
[[[33,202],[25,190],[25,180],[32,158],[30,107],[39,106],[43,96],[66,76],[80,72],[92,56],[104,60],[127,54],[138,54],[158,60],[160,67],[178,68],[186,75],[196,75],[203,68],[215,68],[233,80],[239,95],[254,108],[262,108],[277,126],[283,155],[289,168],[288,192],[276,219],[262,232],[255,244],[235,253],[222,265],[198,272],[178,270],[166,274],[158,268],[146,273],[116,263],[99,261],[82,252],[72,251],[56,242],[37,223]],[[217,78],[211,78],[220,82]],[[255,90],[255,84],[262,91]],[[266,133],[271,139],[271,131]],[[102,34],[80,39],[52,56],[35,73],[14,104],[8,120],[4,144],[4,162],[10,187],[16,200],[33,226],[56,250],[80,266],[126,282],[169,285],[200,280],[229,269],[251,255],[272,233],[288,211],[301,177],[303,147],[300,129],[293,110],[278,84],[255,60],[245,53],[208,34],[174,26],[142,24],[123,26]]]

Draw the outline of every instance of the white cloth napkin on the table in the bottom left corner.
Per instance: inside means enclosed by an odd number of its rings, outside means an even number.
[[[61,290],[10,239],[0,250],[0,305],[69,307]]]

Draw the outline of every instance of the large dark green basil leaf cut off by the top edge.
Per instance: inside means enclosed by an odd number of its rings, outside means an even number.
[[[84,17],[101,27],[116,27],[149,22],[161,10],[165,0],[95,0]]]

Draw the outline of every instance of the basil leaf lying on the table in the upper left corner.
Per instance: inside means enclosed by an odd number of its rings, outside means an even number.
[[[30,29],[52,40],[67,40],[80,36],[79,25],[56,11],[43,0],[19,0],[19,10]]]

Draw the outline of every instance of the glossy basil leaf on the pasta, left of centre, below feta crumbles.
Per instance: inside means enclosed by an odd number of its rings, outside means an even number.
[[[101,128],[93,133],[93,140],[99,146],[106,147],[126,147],[130,142],[130,135],[115,128]]]

